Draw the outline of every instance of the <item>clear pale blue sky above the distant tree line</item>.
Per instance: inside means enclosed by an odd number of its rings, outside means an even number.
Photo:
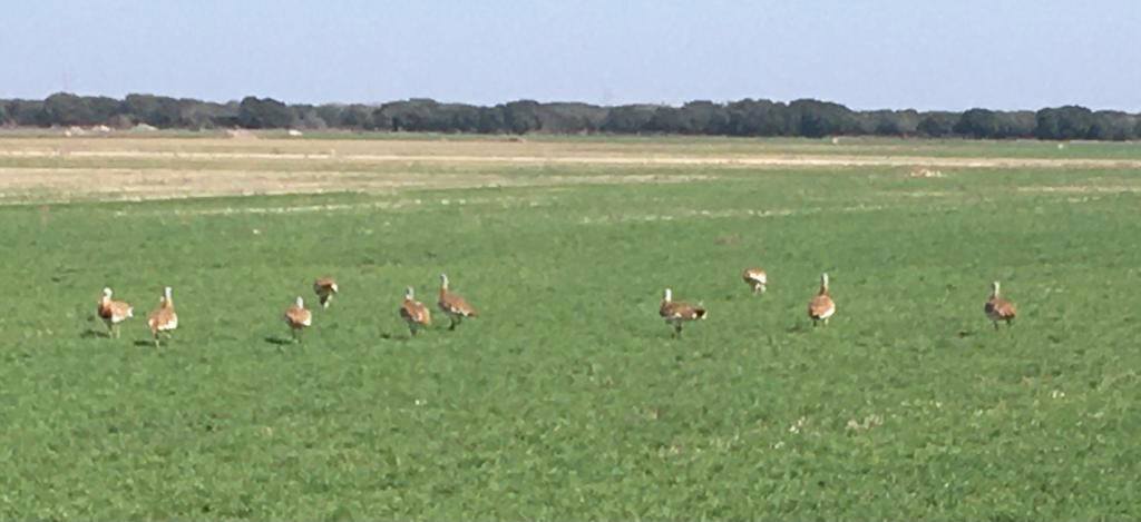
[[[1135,0],[6,3],[0,98],[1141,112]]]

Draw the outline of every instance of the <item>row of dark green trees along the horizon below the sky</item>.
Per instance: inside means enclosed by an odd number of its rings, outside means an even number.
[[[123,99],[58,92],[43,100],[0,99],[0,125],[160,129],[346,129],[525,134],[917,136],[1039,139],[1141,139],[1141,115],[1065,106],[1031,111],[852,111],[815,99],[743,99],[597,106],[518,100],[495,106],[414,98],[380,105],[285,104],[246,97],[225,104],[128,95]]]

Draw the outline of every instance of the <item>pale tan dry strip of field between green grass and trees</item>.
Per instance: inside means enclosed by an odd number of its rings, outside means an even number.
[[[1141,169],[1133,158],[882,148],[869,155],[763,140],[2,138],[0,201],[666,182],[719,169]]]

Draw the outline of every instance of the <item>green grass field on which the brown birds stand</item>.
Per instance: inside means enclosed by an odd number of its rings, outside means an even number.
[[[1141,517],[1136,171],[480,169],[585,182],[0,205],[0,519]]]

